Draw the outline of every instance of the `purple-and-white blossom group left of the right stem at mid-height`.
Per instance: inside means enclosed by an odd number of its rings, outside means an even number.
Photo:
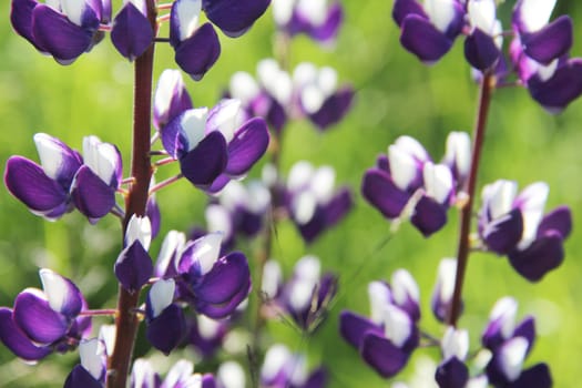
[[[471,154],[466,135],[453,132],[449,139],[448,149],[456,151],[447,152],[445,164],[433,164],[415,139],[398,137],[388,155],[380,155],[376,167],[364,175],[364,197],[390,219],[409,216],[426,237],[439,231],[457,197],[456,176],[464,180]]]

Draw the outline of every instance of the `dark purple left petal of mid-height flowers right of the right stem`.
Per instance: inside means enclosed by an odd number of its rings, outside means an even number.
[[[523,234],[523,217],[519,208],[487,224],[481,232],[489,249],[499,255],[513,251]]]

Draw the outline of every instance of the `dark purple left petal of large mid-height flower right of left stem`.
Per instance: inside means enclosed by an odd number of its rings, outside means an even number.
[[[211,185],[226,167],[227,159],[226,141],[215,131],[180,160],[180,169],[194,185]]]

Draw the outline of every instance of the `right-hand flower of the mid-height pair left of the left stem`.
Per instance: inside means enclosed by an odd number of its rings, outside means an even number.
[[[96,136],[83,137],[83,165],[74,176],[72,197],[76,208],[91,223],[115,206],[121,180],[122,161],[118,147]]]

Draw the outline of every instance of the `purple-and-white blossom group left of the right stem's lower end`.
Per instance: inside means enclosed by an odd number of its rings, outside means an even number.
[[[378,374],[392,377],[406,366],[419,343],[418,286],[406,269],[399,269],[390,285],[370,283],[368,294],[371,317],[344,310],[339,331]]]

